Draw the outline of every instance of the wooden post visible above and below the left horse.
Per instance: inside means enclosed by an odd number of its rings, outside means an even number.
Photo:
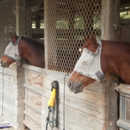
[[[25,35],[25,3],[26,0],[16,0],[16,34],[18,36],[24,36]],[[25,61],[23,60],[23,63]],[[18,67],[17,70],[17,81],[18,81],[18,97],[19,100],[23,101],[24,100],[24,69],[23,69],[23,63],[21,63],[21,66]],[[22,94],[20,94],[22,93]],[[25,125],[23,124],[24,120],[24,103],[20,101],[18,102],[18,123],[19,123],[19,128],[18,130],[24,130]]]

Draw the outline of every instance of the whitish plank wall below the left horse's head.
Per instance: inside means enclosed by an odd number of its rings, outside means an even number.
[[[0,66],[0,113],[16,130],[23,130],[23,69],[14,63],[9,68]],[[3,102],[3,105],[2,105]]]

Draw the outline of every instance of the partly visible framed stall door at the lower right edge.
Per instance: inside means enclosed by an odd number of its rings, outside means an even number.
[[[117,125],[120,130],[130,129],[130,85],[120,84],[115,88],[120,95],[120,111]]]

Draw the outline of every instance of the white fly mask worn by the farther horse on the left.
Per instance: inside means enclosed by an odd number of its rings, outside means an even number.
[[[6,55],[7,57],[9,57],[15,61],[21,60],[21,57],[20,57],[19,51],[18,51],[18,43],[20,40],[21,40],[21,37],[18,37],[15,44],[12,41],[10,41],[8,46],[5,48],[4,55]]]

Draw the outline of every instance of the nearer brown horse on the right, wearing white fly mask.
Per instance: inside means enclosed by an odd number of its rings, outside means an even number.
[[[82,92],[84,87],[101,80],[106,73],[116,74],[130,84],[130,42],[101,40],[102,47],[99,47],[94,35],[85,41],[83,53],[68,81],[72,92]],[[95,62],[95,57],[99,57],[100,63]]]

